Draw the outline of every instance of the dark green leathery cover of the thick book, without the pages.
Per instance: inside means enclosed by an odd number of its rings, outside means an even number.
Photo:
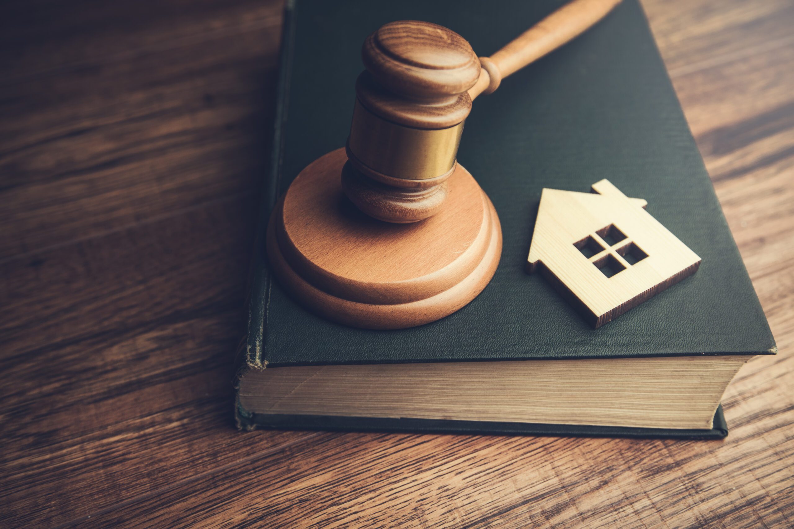
[[[578,39],[476,100],[458,161],[491,197],[503,228],[499,269],[451,316],[400,331],[348,328],[292,301],[268,271],[264,227],[308,163],[345,144],[364,38],[386,22],[445,25],[488,56],[563,2],[322,2],[287,6],[272,173],[265,184],[241,369],[776,351],[642,8],[626,0]],[[510,17],[503,14],[511,13]],[[599,329],[539,274],[524,271],[544,187],[587,192],[608,178],[703,262],[678,285]],[[720,438],[710,431],[547,424],[261,416],[236,404],[240,427],[479,431],[537,435]]]

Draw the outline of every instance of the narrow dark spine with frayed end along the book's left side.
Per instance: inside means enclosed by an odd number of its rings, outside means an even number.
[[[236,355],[236,375],[234,381],[234,416],[237,427],[252,429],[251,416],[241,408],[237,398],[240,378],[249,370],[264,370],[268,365],[265,351],[265,338],[268,332],[268,303],[272,286],[272,274],[265,262],[264,237],[268,228],[268,218],[276,205],[280,184],[284,152],[284,128],[287,124],[287,103],[289,100],[290,73],[295,44],[295,0],[287,0],[284,5],[279,54],[278,85],[276,86],[276,117],[273,121],[273,140],[271,146],[270,169],[267,181],[262,186],[260,213],[257,220],[256,237],[249,276],[246,308],[248,321]]]

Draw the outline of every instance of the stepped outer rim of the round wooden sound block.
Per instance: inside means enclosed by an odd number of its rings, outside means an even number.
[[[468,171],[467,176],[472,178]],[[268,222],[266,237],[268,260],[273,273],[287,292],[301,305],[328,320],[351,327],[371,329],[399,329],[428,324],[449,316],[472,301],[491,281],[499,264],[502,253],[502,228],[490,199],[482,190],[480,193],[480,197],[477,198],[486,202],[484,214],[490,216],[488,219],[490,237],[480,262],[453,286],[424,299],[383,304],[362,303],[328,293],[308,281],[300,273],[300,268],[291,266],[280,247],[279,239],[283,239],[284,235],[283,224],[279,222],[279,216],[283,215],[283,197],[273,209]],[[277,230],[281,232],[280,237]],[[390,266],[390,263],[384,261],[384,266]],[[373,289],[376,288],[377,286],[373,286]]]

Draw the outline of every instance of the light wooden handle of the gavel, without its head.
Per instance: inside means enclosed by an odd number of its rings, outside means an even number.
[[[573,0],[527,29],[490,57],[480,57],[480,78],[468,95],[491,94],[503,78],[552,52],[609,13],[620,0]]]

